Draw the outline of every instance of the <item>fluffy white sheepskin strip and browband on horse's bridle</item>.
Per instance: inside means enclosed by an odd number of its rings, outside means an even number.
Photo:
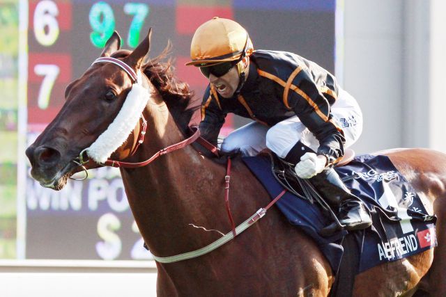
[[[112,124],[86,149],[87,154],[97,163],[105,163],[112,153],[125,143],[134,127],[136,127],[150,97],[148,90],[142,86],[141,71],[138,70],[136,74],[128,65],[121,65],[124,64],[122,61],[118,60],[116,62],[114,60],[117,59],[109,57],[107,57],[107,60],[105,58],[98,58],[93,63],[114,63],[125,70],[135,82],[133,83],[132,90],[130,90],[130,93],[128,93],[125,99],[121,111],[116,115]]]

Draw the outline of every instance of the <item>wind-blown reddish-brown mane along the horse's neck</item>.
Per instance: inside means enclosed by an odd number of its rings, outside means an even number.
[[[200,100],[194,98],[194,91],[190,90],[188,83],[180,81],[174,74],[173,60],[167,58],[171,54],[171,42],[157,57],[148,59],[142,66],[144,74],[166,102],[176,125],[181,131],[187,133],[187,126],[192,120],[192,115],[200,108]],[[115,51],[114,58],[128,56],[130,51],[121,49]]]

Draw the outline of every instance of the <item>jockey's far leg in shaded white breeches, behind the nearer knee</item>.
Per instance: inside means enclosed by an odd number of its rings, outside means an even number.
[[[221,150],[231,152],[240,150],[243,156],[255,156],[266,149],[266,132],[268,127],[259,122],[250,122],[231,132],[224,138]]]

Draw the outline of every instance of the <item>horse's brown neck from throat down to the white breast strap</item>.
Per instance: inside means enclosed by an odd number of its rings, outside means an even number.
[[[185,139],[164,102],[149,102],[148,131],[134,161],[148,159]],[[136,160],[137,159],[137,160]],[[191,145],[160,156],[137,169],[122,169],[125,191],[139,231],[154,255],[174,255],[201,248],[227,232],[223,197],[224,168]],[[218,186],[215,186],[217,184]],[[220,204],[219,209],[215,205]],[[219,227],[220,226],[220,227]]]

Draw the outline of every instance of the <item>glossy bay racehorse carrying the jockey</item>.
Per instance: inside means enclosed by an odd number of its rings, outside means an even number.
[[[112,154],[139,162],[183,141],[192,94],[170,63],[148,60],[151,31],[134,51],[119,49],[115,32],[101,57],[141,70],[150,91],[141,122]],[[132,88],[128,73],[113,63],[95,63],[66,88],[66,103],[26,150],[31,175],[59,190],[79,171],[72,162],[112,123]],[[381,264],[355,278],[353,296],[446,296],[446,155],[433,150],[380,152],[412,184],[426,209],[438,216],[438,247]],[[93,161],[86,168],[100,165]],[[191,145],[160,156],[148,166],[120,168],[125,193],[141,236],[153,255],[167,257],[197,250],[231,230],[224,202],[226,165]],[[231,172],[231,211],[236,225],[270,202],[268,193],[240,159]],[[219,232],[220,231],[220,232]],[[348,251],[347,251],[348,252]],[[328,296],[334,273],[316,243],[293,227],[275,207],[243,234],[212,252],[175,263],[157,262],[158,296]],[[425,295],[423,295],[425,296]]]

